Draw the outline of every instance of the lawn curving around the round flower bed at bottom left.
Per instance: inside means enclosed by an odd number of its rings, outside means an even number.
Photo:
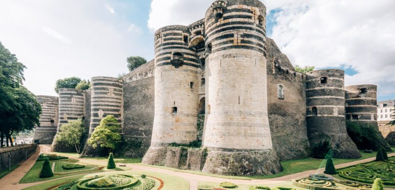
[[[145,174],[147,176],[159,178],[164,183],[164,186],[161,188],[161,190],[174,190],[174,189],[187,190],[187,189],[189,189],[189,183],[187,181],[185,181],[184,179],[182,179],[180,177],[176,177],[176,176],[167,175],[164,173],[159,173],[159,172],[133,170],[133,172],[131,172],[131,171],[106,172],[106,173],[101,173],[99,175],[116,175],[116,174],[124,174],[124,175]],[[53,186],[56,186],[59,184],[71,182],[71,181],[86,178],[86,177],[92,177],[95,175],[96,174],[83,174],[83,175],[73,176],[73,177],[69,177],[69,178],[54,180],[54,181],[50,181],[47,183],[42,183],[42,184],[38,184],[38,185],[31,186],[28,188],[24,188],[24,190],[47,189],[47,188],[50,188],[50,187],[53,187]],[[155,181],[156,181],[156,184],[154,187],[152,187],[152,189],[157,189],[160,185],[158,180],[155,180]]]

